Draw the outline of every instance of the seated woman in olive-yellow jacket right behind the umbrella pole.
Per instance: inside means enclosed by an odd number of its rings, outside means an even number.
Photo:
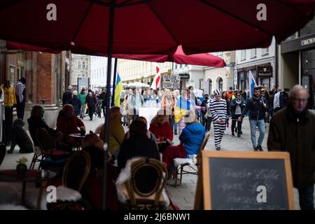
[[[117,158],[121,144],[125,135],[123,125],[121,125],[122,114],[118,106],[113,106],[109,111],[109,155]],[[105,138],[105,125],[103,125],[99,137],[103,140]]]

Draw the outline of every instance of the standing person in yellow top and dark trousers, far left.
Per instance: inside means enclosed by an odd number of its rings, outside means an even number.
[[[16,104],[15,90],[10,85],[10,80],[6,80],[2,86],[3,97],[4,97],[4,143],[6,146],[10,146],[12,139],[13,129],[13,106]]]

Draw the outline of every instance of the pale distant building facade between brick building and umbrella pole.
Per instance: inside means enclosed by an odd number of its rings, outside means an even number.
[[[91,56],[71,54],[71,59],[70,85],[72,85],[73,90],[78,90],[81,87],[81,81],[85,87],[90,88]]]

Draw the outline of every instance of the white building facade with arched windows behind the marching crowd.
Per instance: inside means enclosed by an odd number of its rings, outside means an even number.
[[[214,90],[221,92],[233,86],[233,66],[235,64],[235,51],[214,52],[213,55],[224,59],[227,66],[223,68],[204,67],[204,78],[200,80],[200,89],[212,94]]]

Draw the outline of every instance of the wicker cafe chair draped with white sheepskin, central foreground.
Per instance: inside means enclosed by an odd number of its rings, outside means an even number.
[[[118,176],[118,199],[127,209],[167,209],[169,198],[165,192],[166,181],[167,169],[162,162],[151,158],[132,159]]]

